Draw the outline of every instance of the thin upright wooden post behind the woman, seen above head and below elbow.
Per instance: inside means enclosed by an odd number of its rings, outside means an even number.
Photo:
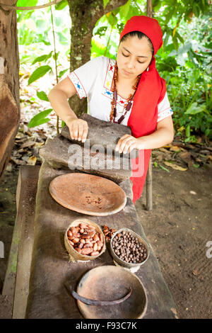
[[[153,17],[152,0],[146,1],[146,15],[148,17]],[[146,210],[152,210],[152,209],[153,209],[153,174],[152,174],[152,157],[151,157],[146,175]]]

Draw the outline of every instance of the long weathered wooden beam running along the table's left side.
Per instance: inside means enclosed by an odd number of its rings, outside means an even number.
[[[40,166],[20,166],[16,190],[17,215],[2,294],[12,295],[13,318],[23,319],[28,299],[34,240],[35,197]]]

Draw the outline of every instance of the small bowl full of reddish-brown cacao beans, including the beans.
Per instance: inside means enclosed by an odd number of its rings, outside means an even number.
[[[67,228],[64,243],[72,261],[92,260],[105,252],[105,236],[93,221],[81,218]]]

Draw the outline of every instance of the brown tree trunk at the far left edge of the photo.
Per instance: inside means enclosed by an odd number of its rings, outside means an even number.
[[[1,0],[13,5],[13,0]],[[13,149],[20,120],[16,11],[0,6],[0,180]]]

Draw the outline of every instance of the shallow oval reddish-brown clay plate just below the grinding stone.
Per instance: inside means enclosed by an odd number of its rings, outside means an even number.
[[[126,193],[122,188],[93,174],[57,176],[51,181],[49,192],[60,205],[88,215],[111,215],[126,205]]]

